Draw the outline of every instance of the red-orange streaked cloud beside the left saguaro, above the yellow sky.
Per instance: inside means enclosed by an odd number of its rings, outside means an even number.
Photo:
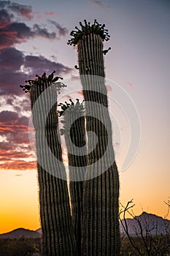
[[[18,162],[26,164],[23,159],[34,157],[28,138],[28,117],[19,116],[18,113],[3,110],[0,113],[0,169],[10,169],[18,166]],[[31,166],[34,162],[32,162]],[[29,165],[29,163],[28,163]],[[30,167],[31,168],[31,167]]]

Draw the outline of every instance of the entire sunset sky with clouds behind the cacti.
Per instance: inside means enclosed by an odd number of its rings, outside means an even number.
[[[109,110],[120,129],[115,131],[120,138],[115,136],[114,141],[119,151],[120,202],[125,205],[134,199],[136,215],[142,211],[166,215],[163,201],[170,196],[170,2],[0,1],[0,233],[40,226],[36,159],[28,138],[30,101],[19,85],[45,71],[56,70],[67,82],[77,76],[77,50],[66,42],[80,21],[93,23],[95,18],[106,24],[111,36],[104,42],[104,48],[112,48],[104,64],[106,78],[112,81]],[[139,150],[125,170],[121,166],[134,134],[129,126],[131,115],[116,103],[114,84],[134,102],[141,124],[141,133],[136,131],[141,136]]]

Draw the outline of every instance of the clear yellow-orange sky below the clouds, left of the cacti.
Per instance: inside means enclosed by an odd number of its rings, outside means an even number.
[[[1,170],[0,233],[40,226],[36,171]]]

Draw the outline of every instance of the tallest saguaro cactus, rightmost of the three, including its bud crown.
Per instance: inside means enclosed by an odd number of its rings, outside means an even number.
[[[116,256],[120,255],[119,178],[112,147],[103,58],[106,54],[103,41],[109,40],[109,34],[104,29],[105,25],[98,24],[96,20],[92,25],[85,20],[85,25],[80,23],[80,27],[71,32],[72,39],[68,44],[77,45],[86,129],[98,137],[96,148],[88,154],[83,188],[82,255]],[[90,141],[88,138],[88,151]],[[97,170],[94,170],[93,163],[96,163]],[[90,178],[92,172],[97,174],[96,178]]]

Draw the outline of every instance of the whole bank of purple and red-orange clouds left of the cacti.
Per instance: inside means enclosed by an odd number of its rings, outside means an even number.
[[[47,16],[53,12],[47,13]],[[45,56],[26,55],[14,48],[28,39],[42,37],[58,39],[68,31],[53,20],[50,31],[41,24],[29,26],[26,23],[34,18],[31,6],[0,1],[0,169],[26,170],[34,169],[36,162],[32,161],[31,146],[28,138],[28,114],[30,100],[28,94],[20,89],[25,80],[34,79],[35,75],[53,70],[56,75],[66,75],[72,69],[56,61],[50,61]],[[4,110],[4,106],[7,106]],[[28,159],[31,157],[31,162]],[[25,161],[26,159],[27,161]]]

